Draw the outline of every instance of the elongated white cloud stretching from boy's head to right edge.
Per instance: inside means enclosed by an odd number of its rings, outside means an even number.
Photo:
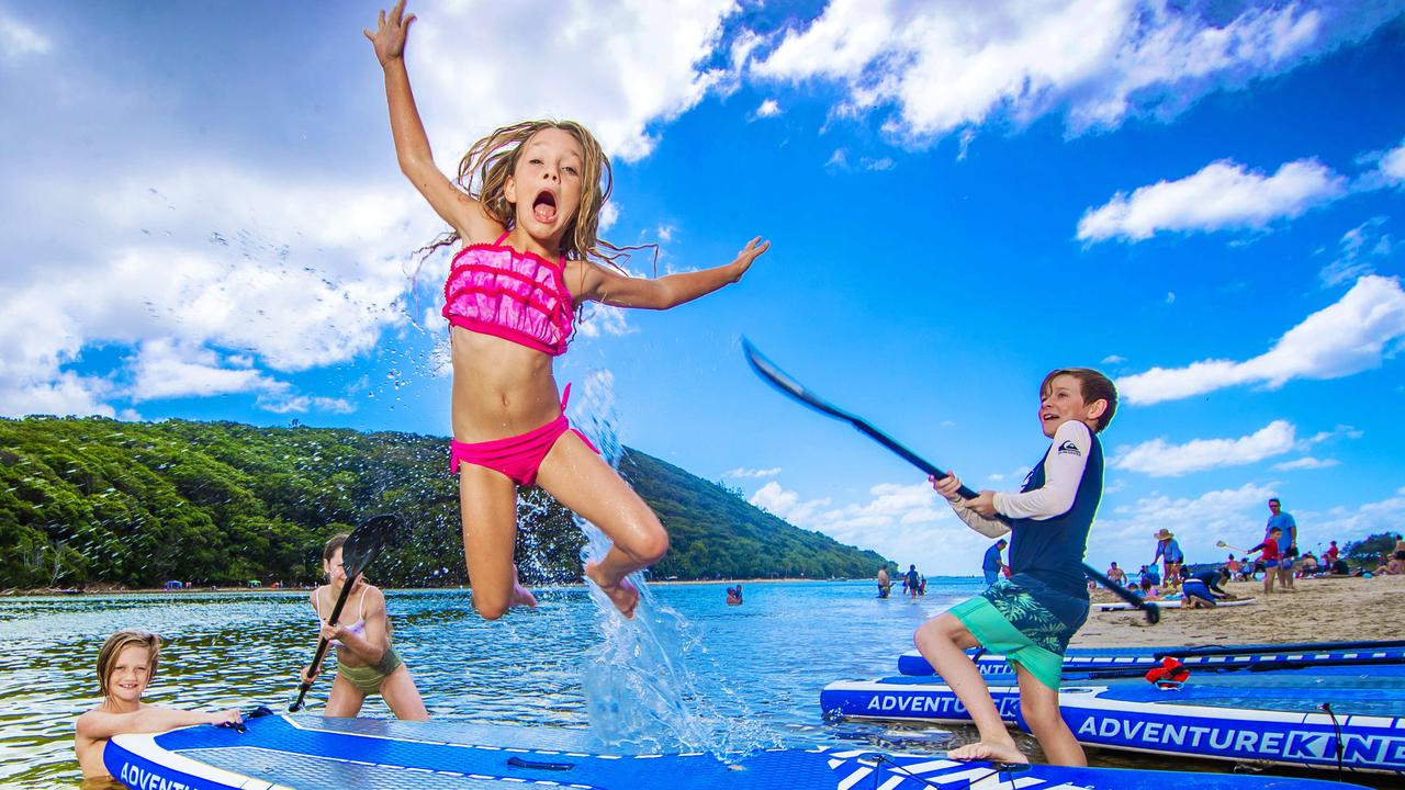
[[[1338,302],[1305,318],[1257,357],[1154,367],[1118,378],[1117,391],[1128,403],[1148,405],[1243,384],[1276,389],[1294,378],[1342,378],[1380,367],[1390,344],[1402,336],[1405,292],[1398,280],[1373,274],[1357,280]]]

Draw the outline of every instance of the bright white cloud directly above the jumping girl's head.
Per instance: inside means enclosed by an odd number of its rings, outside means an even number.
[[[416,98],[433,108],[440,166],[457,173],[493,127],[542,117],[580,121],[611,156],[646,156],[658,142],[651,125],[726,76],[704,63],[738,10],[733,0],[436,6],[412,28],[407,53]]]

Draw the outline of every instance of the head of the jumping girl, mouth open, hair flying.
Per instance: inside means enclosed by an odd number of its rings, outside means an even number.
[[[559,232],[568,259],[604,257],[597,235],[613,183],[600,142],[575,121],[503,127],[473,143],[458,164],[458,184],[483,211],[503,228],[523,225],[534,236]]]

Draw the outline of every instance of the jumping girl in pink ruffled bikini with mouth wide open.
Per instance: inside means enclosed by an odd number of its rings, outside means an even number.
[[[726,266],[632,278],[597,238],[610,160],[579,124],[525,121],[475,143],[457,184],[436,166],[420,122],[405,42],[414,15],[400,0],[365,31],[385,70],[400,170],[464,245],[444,287],[454,358],[451,464],[459,475],[464,554],[473,607],[493,620],[535,604],[517,582],[517,486],[540,485],[614,541],[586,576],[627,617],[639,592],[625,576],[658,562],[669,536],[649,506],[566,423],[552,360],[566,351],[577,305],[667,309],[736,283],[770,242],[752,239]],[[592,260],[594,259],[594,260]]]

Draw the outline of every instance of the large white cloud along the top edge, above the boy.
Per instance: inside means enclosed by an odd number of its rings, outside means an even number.
[[[839,114],[891,108],[885,129],[916,142],[1059,108],[1079,132],[1137,112],[1173,115],[1208,91],[1360,38],[1394,13],[1288,3],[1214,20],[1170,0],[833,0],[750,73],[837,83]]]

